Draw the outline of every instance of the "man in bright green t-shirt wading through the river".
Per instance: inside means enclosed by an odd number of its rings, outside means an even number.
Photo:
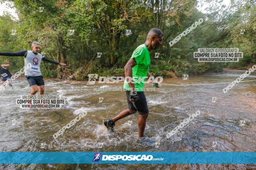
[[[145,77],[152,78],[153,85],[160,87],[159,83],[154,82],[154,77],[148,72],[150,66],[150,52],[162,45],[163,32],[157,28],[152,28],[148,34],[144,44],[138,46],[134,50],[131,58],[125,65],[125,77],[132,77],[133,83],[129,78],[126,79],[124,89],[127,95],[128,109],[123,109],[117,116],[111,120],[103,120],[104,125],[110,132],[113,132],[115,122],[135,114],[138,111],[138,137],[145,140],[144,130],[146,119],[148,116],[148,108],[143,87]]]

